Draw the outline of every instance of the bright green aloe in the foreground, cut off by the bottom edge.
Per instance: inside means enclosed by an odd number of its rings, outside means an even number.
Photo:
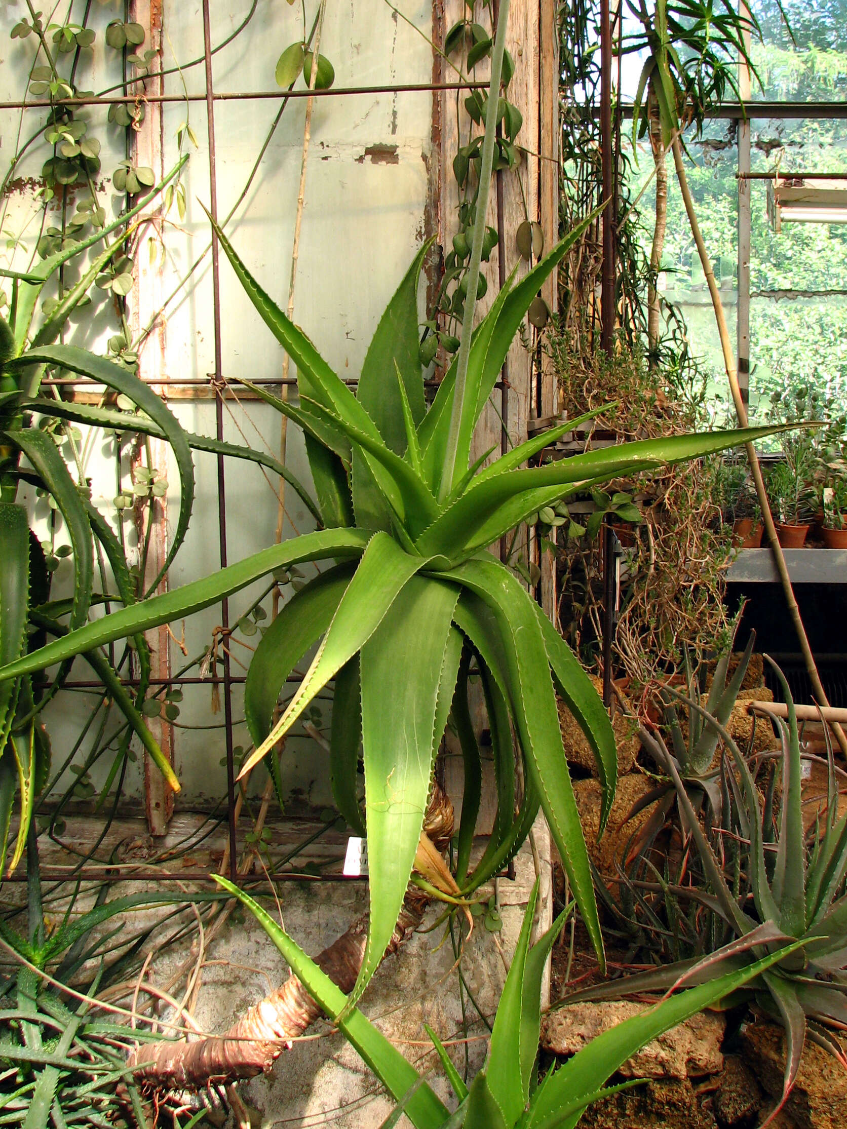
[[[470,1088],[462,1080],[438,1038],[427,1027],[459,1100],[457,1108],[451,1113],[428,1085],[426,1075],[419,1075],[358,1009],[350,1009],[350,1001],[341,989],[306,956],[273,918],[248,894],[226,878],[216,877],[221,886],[251,910],[295,974],[330,1018],[338,1022],[344,1038],[399,1103],[383,1122],[383,1129],[395,1126],[402,1113],[407,1114],[416,1129],[460,1129],[462,1126],[464,1129],[574,1129],[592,1102],[645,1080],[635,1079],[605,1086],[610,1075],[636,1051],[689,1016],[718,1004],[725,996],[743,988],[751,978],[767,975],[769,969],[791,954],[793,947],[796,948],[796,944],[780,947],[770,955],[752,960],[742,970],[733,970],[724,975],[716,974],[716,965],[722,959],[728,959],[728,954],[715,954],[708,961],[711,974],[707,983],[670,996],[641,1015],[619,1023],[593,1039],[564,1066],[550,1069],[541,1084],[536,1085],[541,981],[552,943],[568,916],[566,910],[543,937],[530,945],[538,899],[536,882],[500,996],[486,1065]],[[786,938],[774,931],[768,939],[779,944]]]

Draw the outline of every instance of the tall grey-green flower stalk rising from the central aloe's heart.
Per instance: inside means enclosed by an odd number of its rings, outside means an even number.
[[[491,167],[494,165],[494,147],[497,134],[497,107],[499,103],[500,76],[503,73],[503,54],[506,47],[506,26],[509,16],[509,0],[500,0],[497,15],[497,32],[494,52],[491,54],[491,86],[486,107],[486,133],[482,140],[482,157],[480,160],[479,189],[477,191],[475,218],[473,222],[473,240],[471,243],[471,261],[468,268],[468,289],[464,299],[462,317],[462,335],[456,360],[456,383],[453,393],[453,410],[447,434],[447,449],[444,456],[444,470],[439,488],[439,501],[451,492],[456,473],[456,453],[465,410],[475,412],[475,404],[464,405],[465,382],[468,378],[468,361],[471,356],[471,334],[473,333],[473,313],[477,307],[477,286],[479,282],[480,262],[482,261],[482,238],[486,234],[486,212],[488,210],[488,192],[491,186]],[[460,476],[465,467],[460,467]]]

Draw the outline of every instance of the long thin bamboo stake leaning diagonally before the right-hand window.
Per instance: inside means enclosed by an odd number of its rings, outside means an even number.
[[[741,388],[739,387],[739,374],[735,369],[735,355],[732,350],[732,344],[730,342],[730,331],[726,326],[726,317],[724,315],[724,307],[721,301],[721,295],[718,294],[717,283],[715,282],[715,272],[711,269],[711,261],[709,260],[708,251],[706,250],[706,244],[702,238],[702,233],[700,231],[700,225],[697,221],[697,215],[695,212],[693,201],[691,199],[691,192],[688,186],[688,177],[686,176],[686,166],[682,160],[682,146],[680,145],[679,138],[673,139],[673,163],[676,168],[676,180],[680,184],[680,191],[682,192],[682,200],[686,205],[686,212],[688,215],[688,221],[691,225],[691,234],[693,235],[695,243],[697,244],[697,253],[700,256],[700,263],[702,264],[702,272],[706,275],[706,282],[709,288],[709,295],[711,297],[711,305],[715,308],[715,320],[717,322],[717,331],[721,335],[721,349],[724,355],[724,367],[726,368],[726,376],[730,382],[730,391],[732,392],[733,403],[735,404],[735,413],[739,418],[739,423],[741,427],[748,427],[748,413],[746,406],[744,405],[744,400],[741,395]],[[791,577],[788,576],[788,567],[785,563],[785,555],[783,554],[783,548],[777,539],[776,526],[774,525],[774,515],[770,511],[770,502],[768,501],[768,492],[765,489],[765,479],[762,478],[761,466],[759,464],[759,456],[756,452],[756,447],[752,443],[745,444],[746,456],[750,462],[750,473],[753,478],[753,483],[756,485],[756,493],[759,498],[759,506],[761,508],[762,522],[765,523],[765,530],[768,534],[768,542],[770,544],[771,552],[774,553],[774,561],[777,567],[777,572],[779,574],[779,580],[783,585],[783,592],[785,593],[785,601],[788,605],[788,615],[794,624],[794,630],[797,633],[797,639],[800,641],[800,649],[803,653],[803,659],[805,662],[806,672],[809,679],[812,683],[812,693],[818,700],[819,706],[829,707],[829,701],[827,700],[826,691],[821,684],[820,675],[818,674],[818,667],[814,662],[814,655],[812,654],[812,648],[809,645],[809,637],[806,636],[805,628],[803,627],[803,620],[800,614],[800,607],[797,607],[797,601],[794,595],[794,588],[792,587]],[[845,756],[847,756],[847,735],[845,735],[844,729],[837,721],[832,721],[832,732],[836,735],[839,747]]]

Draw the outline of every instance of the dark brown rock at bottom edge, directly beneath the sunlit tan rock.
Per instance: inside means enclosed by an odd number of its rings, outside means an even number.
[[[590,1105],[579,1129],[716,1129],[684,1078],[648,1082]]]

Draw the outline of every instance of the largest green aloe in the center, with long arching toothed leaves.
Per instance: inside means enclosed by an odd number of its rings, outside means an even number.
[[[501,14],[506,8],[504,2]],[[497,98],[489,99],[489,105],[496,110]],[[494,134],[491,122],[486,135]],[[477,236],[484,222],[482,189],[487,191],[490,173],[490,160],[483,159]],[[269,631],[255,650],[245,688],[245,712],[255,747],[242,774],[267,756],[315,694],[335,680],[348,708],[337,710],[333,721],[332,784],[340,809],[351,823],[366,828],[370,874],[370,928],[353,1001],[378,965],[398,920],[435,754],[451,707],[466,699],[471,664],[462,662],[463,650],[475,660],[489,703],[499,800],[495,834],[477,869],[462,875],[463,891],[475,889],[508,861],[526,838],[540,805],[603,961],[591,867],[555,691],[568,702],[596,756],[602,823],[617,780],[611,725],[591,681],[517,575],[484,550],[540,507],[585,489],[586,483],[696,458],[769,434],[765,428],[750,428],[673,436],[526,467],[559,434],[560,429],[553,429],[484,470],[469,466],[475,425],[526,309],[592,218],[519,282],[504,287],[475,331],[465,316],[463,347],[429,411],[413,348],[417,286],[426,247],[383,314],[355,394],[216,229],[253,305],[297,367],[296,401],[261,394],[305,431],[325,530],[88,623],[0,669],[0,680],[18,676],[184,616],[281,566],[304,560],[337,562],[332,583],[321,576],[306,585],[285,612],[285,630]],[[468,300],[472,306],[472,298]],[[318,640],[299,689],[274,723],[286,677]],[[513,728],[525,780],[517,805]],[[364,811],[357,804],[360,746]],[[473,762],[479,756],[475,742],[465,741],[463,753]],[[477,777],[471,770],[469,779]],[[472,807],[469,803],[468,811]],[[465,846],[472,831],[470,824],[462,829]],[[465,867],[466,854],[463,850]]]

